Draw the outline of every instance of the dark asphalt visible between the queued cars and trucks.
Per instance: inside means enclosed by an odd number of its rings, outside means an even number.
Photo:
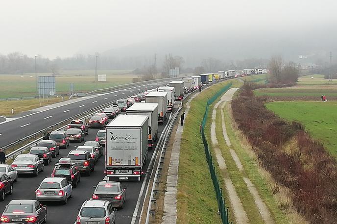
[[[163,131],[165,125],[158,126],[158,137]],[[99,129],[89,129],[89,134],[85,137],[85,141],[94,141],[96,138],[96,133]],[[158,141],[157,141],[158,143]],[[0,211],[3,212],[5,206],[12,199],[35,199],[35,190],[38,188],[39,184],[45,177],[49,177],[54,168],[55,162],[57,162],[61,157],[66,157],[71,149],[75,149],[83,143],[71,143],[68,149],[60,149],[60,155],[53,158],[52,163],[45,166],[44,172],[39,173],[37,177],[32,175],[20,175],[18,182],[14,183],[13,195],[7,195],[4,201],[0,202]],[[151,156],[154,150],[149,150],[147,156],[147,165],[145,171],[150,162]],[[73,224],[76,220],[78,214],[78,208],[81,207],[82,203],[86,199],[90,199],[94,193],[93,186],[104,178],[104,156],[96,162],[95,172],[91,176],[81,176],[81,182],[78,184],[77,188],[73,188],[72,199],[68,200],[66,205],[62,205],[58,202],[48,202],[48,224]],[[135,182],[122,182],[123,186],[127,187],[126,202],[123,209],[117,211],[117,224],[130,224],[135,206],[140,194],[141,186],[144,181],[144,175],[141,181]]]

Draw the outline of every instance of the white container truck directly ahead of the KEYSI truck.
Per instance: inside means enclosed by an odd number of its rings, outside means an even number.
[[[126,114],[148,116],[147,147],[152,149],[158,134],[158,103],[136,102],[126,109]]]

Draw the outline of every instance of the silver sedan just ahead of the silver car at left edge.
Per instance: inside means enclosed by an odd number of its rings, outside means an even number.
[[[43,159],[40,159],[37,155],[21,154],[14,159],[12,167],[18,174],[34,174],[37,176],[40,171],[43,171],[44,164]]]

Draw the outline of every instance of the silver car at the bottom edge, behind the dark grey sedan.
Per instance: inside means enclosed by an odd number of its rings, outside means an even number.
[[[76,223],[115,224],[117,209],[107,200],[86,200],[79,210]]]

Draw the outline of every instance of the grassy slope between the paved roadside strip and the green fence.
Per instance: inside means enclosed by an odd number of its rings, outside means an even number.
[[[214,95],[230,81],[223,81],[204,89],[191,101],[191,109],[186,116],[180,145],[177,223],[178,224],[219,224],[217,199],[208,170],[199,125],[205,113],[207,98]],[[232,80],[234,85],[241,82]]]

